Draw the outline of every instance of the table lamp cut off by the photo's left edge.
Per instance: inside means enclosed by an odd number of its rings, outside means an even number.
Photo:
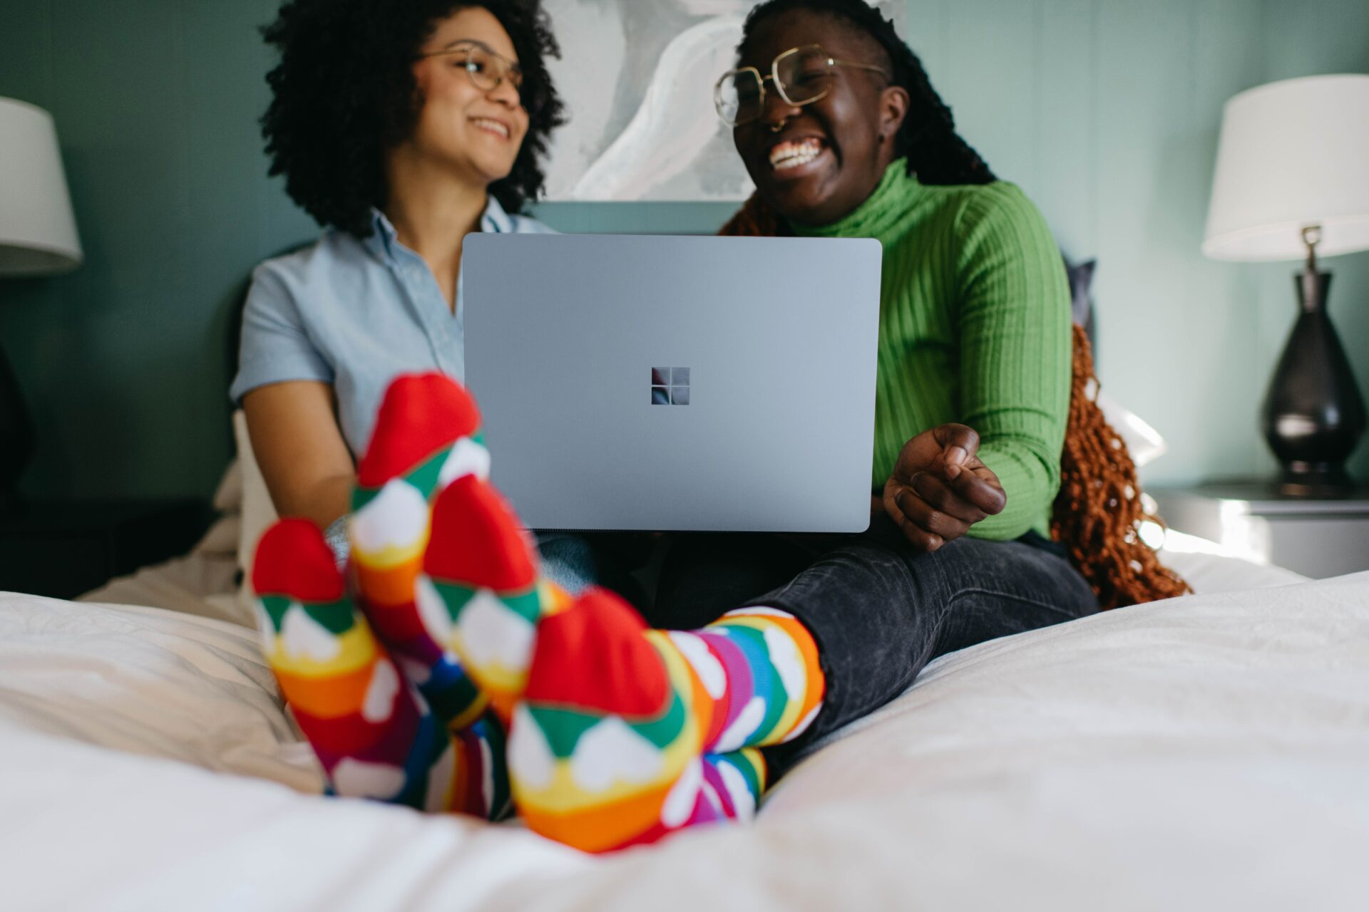
[[[41,276],[81,265],[52,115],[0,98],[0,276]],[[18,506],[19,474],[33,455],[33,420],[0,349],[0,513]]]

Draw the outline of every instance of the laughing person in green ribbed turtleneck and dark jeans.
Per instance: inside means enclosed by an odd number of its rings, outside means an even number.
[[[678,536],[654,626],[737,604],[813,633],[828,701],[797,744],[897,696],[928,660],[1098,603],[1049,540],[1071,395],[1069,293],[1029,200],[956,134],[862,0],[769,0],[719,113],[756,196],[724,234],[884,247],[872,522],[860,536]],[[798,494],[801,496],[801,492]]]

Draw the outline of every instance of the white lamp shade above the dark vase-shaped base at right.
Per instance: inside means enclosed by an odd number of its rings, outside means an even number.
[[[1202,252],[1301,260],[1369,249],[1369,75],[1284,79],[1227,101]]]

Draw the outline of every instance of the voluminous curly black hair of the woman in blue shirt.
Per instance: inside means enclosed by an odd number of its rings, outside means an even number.
[[[285,175],[286,193],[319,224],[371,234],[371,206],[385,202],[383,153],[418,123],[413,55],[438,21],[468,7],[489,10],[512,40],[528,112],[513,168],[490,193],[508,212],[541,196],[541,160],[565,116],[545,62],[561,52],[535,0],[286,0],[261,30],[281,55],[267,74],[261,135],[270,174]]]

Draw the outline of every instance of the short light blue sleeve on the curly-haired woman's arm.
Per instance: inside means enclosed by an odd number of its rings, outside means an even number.
[[[252,273],[242,310],[238,375],[229,397],[241,403],[244,395],[270,383],[333,383],[333,368],[309,339],[294,291],[272,264],[263,263]]]

